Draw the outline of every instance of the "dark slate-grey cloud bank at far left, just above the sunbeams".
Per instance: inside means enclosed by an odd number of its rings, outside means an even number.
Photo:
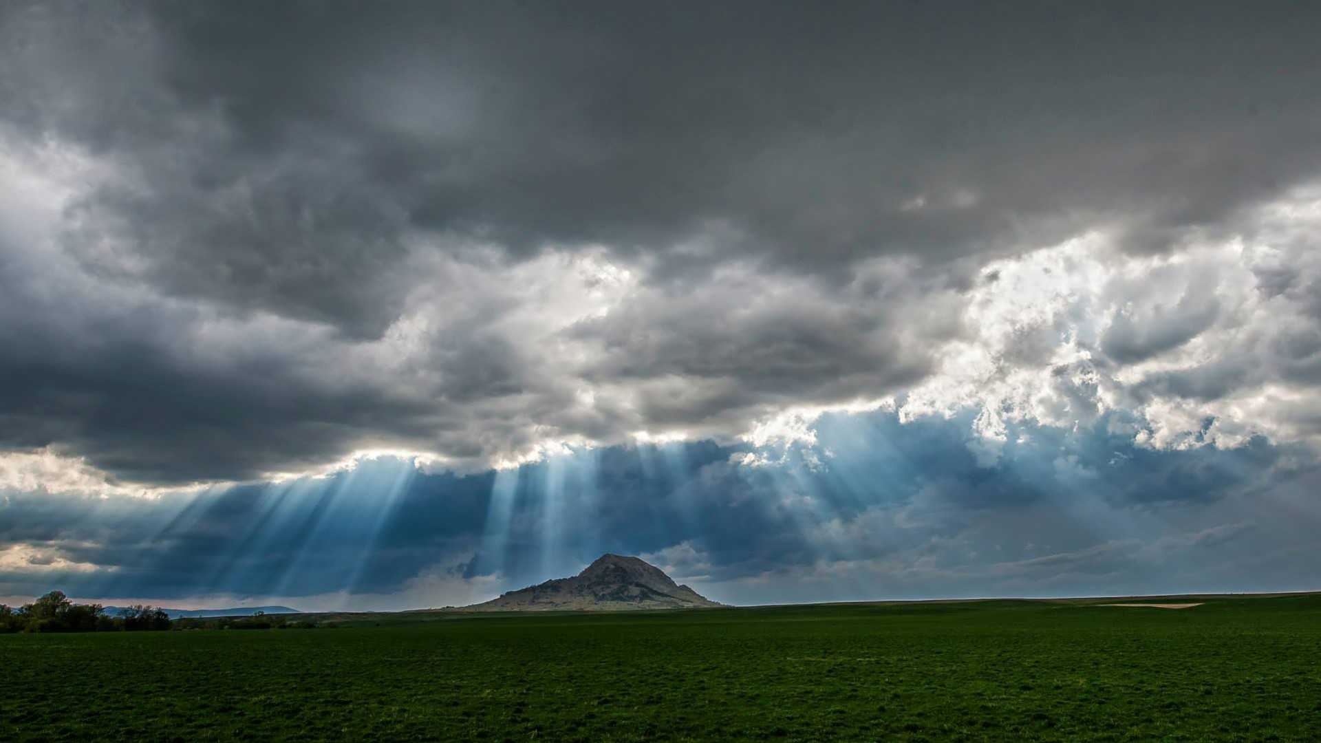
[[[4,443],[22,450],[58,442],[131,481],[250,479],[324,463],[365,430],[378,434],[374,422],[390,416],[400,430],[413,415],[404,401],[375,390],[289,389],[263,377],[281,369],[230,366],[213,375],[161,364],[159,352],[112,340],[69,366],[9,358],[0,369]]]

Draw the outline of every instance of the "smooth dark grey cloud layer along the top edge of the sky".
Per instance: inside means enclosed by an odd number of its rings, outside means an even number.
[[[1155,243],[1317,167],[1297,5],[165,8],[172,93],[246,148],[351,143],[415,223],[513,246],[716,222],[818,266],[1069,213]]]

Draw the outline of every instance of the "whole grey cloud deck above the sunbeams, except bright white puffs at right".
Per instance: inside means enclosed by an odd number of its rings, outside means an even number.
[[[0,196],[0,447],[133,481],[370,447],[480,467],[634,431],[728,442],[937,373],[982,331],[958,297],[991,258],[1089,230],[1116,262],[1177,253],[1321,171],[1301,4],[0,15],[0,156],[87,163],[50,214],[30,177]],[[530,299],[576,270],[538,260],[588,254],[631,271],[609,312]],[[1254,271],[1263,301],[1321,307],[1306,271]],[[1116,309],[1098,366],[1236,321],[1210,290],[1149,299]],[[1048,360],[1067,336],[1048,331],[997,364]],[[1120,397],[1313,383],[1308,342]]]

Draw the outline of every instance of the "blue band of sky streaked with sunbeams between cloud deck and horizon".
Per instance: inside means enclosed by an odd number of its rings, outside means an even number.
[[[325,480],[160,501],[11,493],[0,501],[0,559],[16,545],[25,551],[21,565],[0,563],[0,595],[379,595],[435,571],[453,582],[495,576],[483,588],[495,592],[604,551],[647,554],[740,600],[1304,579],[1288,562],[1247,575],[1234,566],[1296,545],[1285,531],[1316,520],[1314,508],[1303,509],[1287,526],[1263,510],[1271,493],[1314,483],[1314,468],[1285,464],[1296,451],[1255,442],[1235,452],[1156,452],[1104,424],[1079,434],[1028,427],[999,464],[980,467],[967,423],[831,416],[822,422],[823,459],[791,450],[761,467],[732,461],[745,450],[691,443],[580,451],[466,477],[367,460]],[[513,485],[502,490],[499,479]],[[493,505],[499,492],[509,497],[503,516]],[[795,583],[795,571],[822,565],[877,575],[852,587]],[[758,594],[756,579],[768,572],[782,580]]]

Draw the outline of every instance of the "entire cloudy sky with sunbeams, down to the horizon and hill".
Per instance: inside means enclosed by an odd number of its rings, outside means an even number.
[[[1304,3],[0,5],[0,602],[1321,590]]]

